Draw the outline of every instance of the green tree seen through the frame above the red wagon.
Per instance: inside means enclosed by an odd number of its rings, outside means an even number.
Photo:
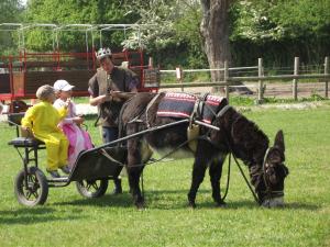
[[[55,24],[116,24],[135,22],[134,15],[125,15],[125,1],[118,0],[30,0],[24,21],[26,23]],[[90,35],[90,34],[89,34]],[[120,46],[123,34],[107,32],[102,43]],[[52,49],[54,36],[38,29],[26,32],[26,46],[33,50]],[[95,32],[98,46],[99,33]],[[86,49],[85,32],[58,32],[59,49],[81,52]],[[89,38],[90,40],[90,38]],[[91,44],[89,44],[91,45]]]

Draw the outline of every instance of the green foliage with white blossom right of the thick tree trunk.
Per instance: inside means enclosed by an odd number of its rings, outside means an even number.
[[[242,0],[231,9],[237,64],[320,63],[330,54],[329,0]]]

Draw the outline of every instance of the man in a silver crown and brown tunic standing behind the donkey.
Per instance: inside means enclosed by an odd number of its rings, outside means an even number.
[[[136,92],[139,79],[133,71],[113,65],[110,48],[100,48],[96,56],[100,68],[89,80],[89,103],[98,106],[102,139],[109,143],[118,138],[118,117],[125,101],[116,92]],[[121,179],[113,181],[113,193],[122,193]]]

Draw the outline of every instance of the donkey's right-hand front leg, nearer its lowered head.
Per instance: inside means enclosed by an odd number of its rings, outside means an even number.
[[[209,175],[210,175],[210,180],[212,186],[212,198],[218,205],[226,204],[221,200],[221,192],[220,192],[220,179],[222,175],[222,166],[223,166],[224,158],[226,156],[221,156],[212,160],[209,168]]]

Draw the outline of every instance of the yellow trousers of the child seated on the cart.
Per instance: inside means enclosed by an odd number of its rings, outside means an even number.
[[[57,170],[67,165],[69,143],[63,133],[51,133],[46,139],[47,170]]]

